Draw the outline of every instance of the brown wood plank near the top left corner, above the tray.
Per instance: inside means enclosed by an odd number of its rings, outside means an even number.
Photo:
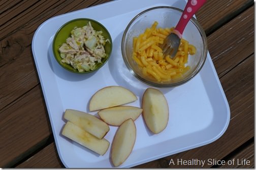
[[[98,5],[110,0],[97,1],[22,1],[0,14],[0,40],[33,22],[36,28],[45,20],[71,11]],[[42,20],[43,19],[43,20]]]

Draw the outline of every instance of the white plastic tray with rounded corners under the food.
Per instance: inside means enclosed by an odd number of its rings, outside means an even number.
[[[121,36],[130,20],[141,11],[156,6],[184,9],[185,1],[119,0],[63,14],[45,21],[36,31],[32,50],[49,113],[57,151],[66,167],[113,167],[110,148],[99,156],[76,144],[60,133],[66,109],[88,111],[90,97],[106,86],[122,86],[134,92],[138,100],[129,105],[141,106],[141,98],[148,88],[126,68],[121,56]],[[52,40],[58,28],[75,18],[91,18],[101,22],[113,40],[112,55],[99,71],[78,75],[60,67],[53,57]],[[227,129],[230,109],[215,68],[208,53],[200,73],[186,84],[173,89],[160,89],[166,96],[170,119],[167,128],[152,135],[142,116],[136,121],[137,139],[127,160],[119,167],[131,167],[164,156],[196,148],[217,140]],[[97,112],[90,112],[97,115]],[[112,141],[116,128],[106,135]]]

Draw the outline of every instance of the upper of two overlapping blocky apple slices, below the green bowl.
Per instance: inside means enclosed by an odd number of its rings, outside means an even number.
[[[99,139],[102,139],[109,131],[107,123],[89,113],[67,109],[64,118]]]

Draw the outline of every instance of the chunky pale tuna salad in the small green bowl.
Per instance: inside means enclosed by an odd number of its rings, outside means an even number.
[[[59,48],[61,62],[70,64],[79,72],[94,70],[97,63],[106,57],[106,41],[102,31],[95,31],[88,22],[82,28],[75,27],[71,36]]]

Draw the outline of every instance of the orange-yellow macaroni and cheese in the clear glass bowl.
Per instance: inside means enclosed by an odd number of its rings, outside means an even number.
[[[174,59],[169,55],[164,58],[159,46],[164,43],[164,39],[174,28],[156,28],[157,24],[155,21],[150,28],[146,28],[144,33],[133,38],[133,59],[142,68],[144,75],[152,76],[157,81],[180,78],[190,69],[185,64],[188,61],[188,55],[196,54],[196,47],[181,38]]]

